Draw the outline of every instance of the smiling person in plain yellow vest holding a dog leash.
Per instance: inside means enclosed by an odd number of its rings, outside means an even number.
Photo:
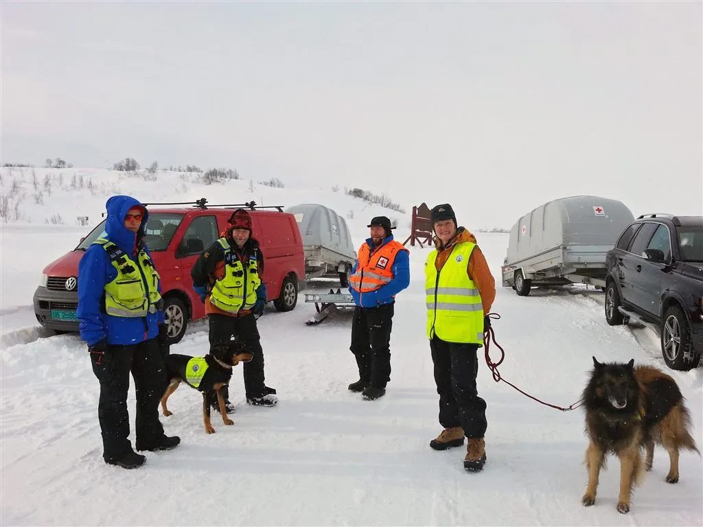
[[[439,424],[434,450],[464,444],[464,468],[481,471],[486,462],[486,401],[478,396],[477,351],[490,325],[487,313],[496,298],[496,281],[476,238],[458,227],[450,204],[431,212],[435,249],[425,261],[427,338],[434,383],[439,393]]]

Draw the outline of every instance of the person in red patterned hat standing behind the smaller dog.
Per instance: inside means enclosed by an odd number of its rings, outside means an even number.
[[[252,353],[243,368],[247,403],[275,406],[276,390],[264,384],[264,351],[257,329],[257,317],[266,306],[263,275],[264,255],[252,238],[252,216],[244,209],[232,213],[226,232],[200,254],[191,271],[193,289],[205,302],[210,346],[233,338],[242,341]],[[227,387],[223,395],[226,411],[233,412]],[[217,398],[211,404],[219,411]]]

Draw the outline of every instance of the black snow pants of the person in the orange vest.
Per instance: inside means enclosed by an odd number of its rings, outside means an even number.
[[[352,346],[359,379],[385,388],[391,379],[391,328],[394,302],[374,308],[354,308]]]

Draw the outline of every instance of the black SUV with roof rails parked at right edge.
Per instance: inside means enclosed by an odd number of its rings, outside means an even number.
[[[703,216],[640,216],[605,261],[607,323],[653,326],[666,365],[696,367],[703,351]]]

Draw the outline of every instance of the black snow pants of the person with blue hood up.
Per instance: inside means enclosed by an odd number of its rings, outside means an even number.
[[[127,392],[129,373],[136,388],[136,449],[148,450],[164,437],[159,421],[159,401],[166,391],[167,373],[157,339],[127,346],[110,345],[96,364],[91,354],[93,373],[100,382],[98,420],[103,435],[105,461],[119,460],[132,451],[129,442]]]

